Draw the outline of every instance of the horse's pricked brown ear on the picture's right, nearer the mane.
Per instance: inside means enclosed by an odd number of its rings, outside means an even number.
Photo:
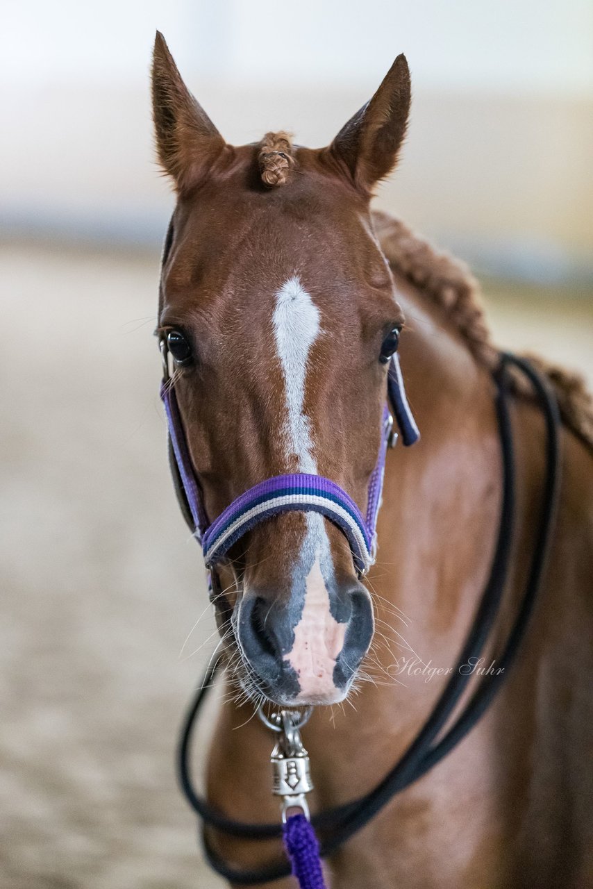
[[[410,70],[398,55],[388,75],[330,146],[334,159],[346,166],[358,188],[368,192],[393,169],[405,137],[412,98]]]

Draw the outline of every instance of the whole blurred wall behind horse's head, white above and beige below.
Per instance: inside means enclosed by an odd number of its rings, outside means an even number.
[[[410,136],[381,203],[511,276],[593,278],[590,0],[7,3],[4,230],[152,240],[148,64],[156,28],[228,140],[331,140],[397,52]]]

